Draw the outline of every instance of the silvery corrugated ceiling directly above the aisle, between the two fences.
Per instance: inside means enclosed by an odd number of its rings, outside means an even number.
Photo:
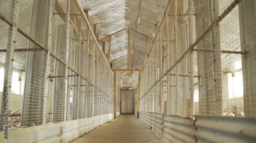
[[[133,48],[133,53],[130,56],[131,68],[142,69],[145,60],[146,36],[148,37],[147,52],[149,52],[152,47],[153,38],[155,38],[157,21],[163,15],[163,9],[167,4],[167,0],[142,0],[140,23],[137,27],[135,23],[139,9],[139,0],[79,0],[79,2],[83,10],[89,11],[90,25],[94,27],[94,24],[96,24],[96,32],[99,39],[104,38],[99,41],[99,44],[102,46],[102,41],[105,42],[105,54],[108,54],[109,49],[109,38],[105,37],[112,35],[110,53],[112,68],[127,69],[128,30],[130,30],[130,41]],[[133,30],[136,30],[134,37]],[[138,80],[138,76],[129,75],[131,75],[130,72],[120,72],[120,74],[117,74],[121,80],[121,82],[117,82],[120,88],[130,86],[133,89],[137,88],[137,82],[135,81]],[[131,81],[134,83],[131,83]]]

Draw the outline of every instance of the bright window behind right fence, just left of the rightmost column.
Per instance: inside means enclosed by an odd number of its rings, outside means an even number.
[[[234,73],[228,73],[228,97],[237,98],[244,96],[243,88],[243,74],[242,71]]]

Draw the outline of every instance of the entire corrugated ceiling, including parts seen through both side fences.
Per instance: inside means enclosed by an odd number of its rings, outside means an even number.
[[[66,7],[66,1],[59,1],[63,8]],[[145,60],[145,47],[146,47],[146,36],[147,38],[147,53],[152,47],[153,38],[155,38],[156,28],[158,21],[161,20],[163,10],[167,4],[167,0],[154,1],[154,0],[142,0],[140,9],[140,23],[135,28],[135,22],[138,12],[139,0],[114,0],[114,1],[90,1],[90,0],[79,0],[83,10],[89,10],[89,21],[91,27],[97,24],[97,33],[100,40],[99,44],[102,45],[102,41],[105,42],[105,54],[108,54],[109,38],[112,35],[111,41],[111,56],[110,62],[113,65],[113,69],[126,69],[127,68],[127,57],[128,57],[128,30],[130,30],[130,38],[133,41],[133,29],[136,29],[134,35],[134,42],[131,43],[131,47],[134,48],[131,54],[130,61],[131,67],[134,69],[141,69],[144,65]],[[220,13],[225,8],[221,4],[225,1],[220,2]],[[32,11],[32,0],[25,0],[20,2],[19,9],[19,26],[23,30],[29,33]],[[1,1],[1,13],[5,16],[10,16],[10,5],[8,1]],[[221,35],[221,47],[222,50],[231,50],[237,47],[236,51],[240,51],[240,35],[239,35],[239,21],[238,19],[238,8],[235,7],[221,22],[220,22],[220,35]],[[0,43],[2,45],[7,44],[8,35],[8,24],[0,21]],[[119,32],[121,31],[121,32]],[[118,32],[118,33],[117,33]],[[115,34],[116,33],[116,34]],[[114,35],[113,35],[114,34]],[[236,35],[236,37],[230,37],[229,35]],[[18,41],[16,48],[24,48],[27,45],[27,40],[22,35],[17,35]],[[5,46],[1,46],[0,49],[4,49]],[[223,71],[236,71],[241,69],[241,55],[222,54],[222,70]],[[0,53],[0,62],[5,63],[5,54]],[[14,67],[17,69],[25,70],[26,52],[19,52],[18,55],[14,56]],[[134,62],[133,62],[134,61]],[[195,70],[196,65],[195,65]],[[119,86],[129,87],[132,85],[133,89],[137,88],[137,83],[131,81],[137,81],[138,76],[129,76],[132,73],[121,72],[118,74],[122,82]]]

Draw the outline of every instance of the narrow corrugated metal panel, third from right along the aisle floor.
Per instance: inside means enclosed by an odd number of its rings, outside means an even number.
[[[162,113],[156,113],[152,112],[152,121],[151,121],[151,129],[153,132],[159,137],[162,137],[163,133],[163,114]]]

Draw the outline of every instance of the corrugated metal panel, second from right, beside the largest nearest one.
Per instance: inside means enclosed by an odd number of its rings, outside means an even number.
[[[164,115],[162,137],[167,142],[196,142],[193,120],[176,115]]]

